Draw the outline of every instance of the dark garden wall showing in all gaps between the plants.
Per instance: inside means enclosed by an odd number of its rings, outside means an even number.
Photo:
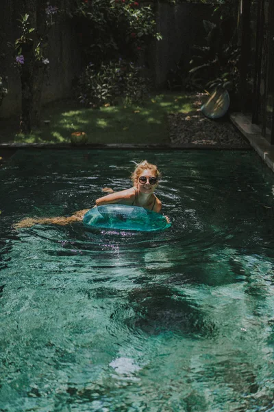
[[[20,13],[16,3],[16,0],[6,0],[0,14],[0,74],[8,76],[8,95],[0,107],[0,117],[18,113],[21,108],[20,79],[14,67],[12,49],[7,45],[14,42],[18,35],[16,27]],[[214,6],[203,3],[181,3],[176,6],[154,3],[153,7],[158,32],[163,40],[151,43],[145,60],[153,73],[155,85],[160,88],[165,86],[167,73],[174,69],[176,62],[183,61],[186,70],[193,53],[192,46],[205,42],[203,20],[213,21]],[[80,59],[77,33],[72,21],[62,16],[50,34],[49,78],[43,88],[43,104],[71,95],[73,81],[81,70]]]

